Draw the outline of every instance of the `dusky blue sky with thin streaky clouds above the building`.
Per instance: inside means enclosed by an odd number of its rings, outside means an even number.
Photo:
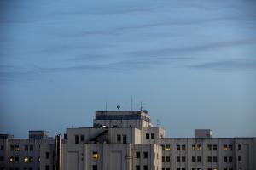
[[[0,1],[0,133],[141,103],[167,137],[255,137],[256,2]]]

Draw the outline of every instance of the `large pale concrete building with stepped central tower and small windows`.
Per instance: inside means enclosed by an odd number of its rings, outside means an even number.
[[[67,128],[59,140],[30,134],[33,139],[1,137],[1,169],[256,169],[256,138],[212,138],[209,129],[196,129],[195,138],[166,138],[147,111],[96,111],[93,127]],[[33,145],[31,154],[26,145]]]

